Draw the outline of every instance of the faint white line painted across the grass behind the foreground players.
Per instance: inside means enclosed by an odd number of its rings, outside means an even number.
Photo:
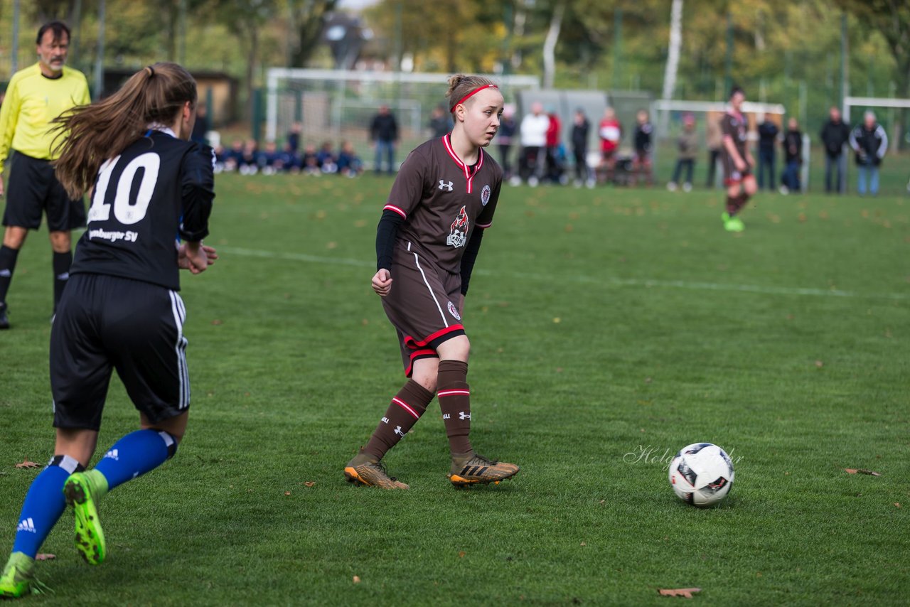
[[[285,259],[287,261],[303,261],[333,266],[352,266],[355,268],[375,268],[376,264],[363,259],[329,258],[305,253],[280,253],[263,251],[252,248],[218,247],[219,252],[228,255],[238,255],[248,258]],[[862,299],[892,299],[896,301],[910,300],[910,293],[856,293],[840,289],[827,288],[794,288],[794,287],[761,287],[758,285],[733,285],[717,282],[701,282],[689,280],[661,280],[656,278],[615,278],[593,277],[571,274],[537,274],[532,272],[500,272],[490,269],[475,269],[474,274],[491,277],[524,278],[540,280],[543,282],[568,281],[582,284],[595,284],[607,287],[645,287],[645,288],[684,288],[695,291],[733,291],[739,293],[758,293],[760,295],[795,295],[801,297],[827,297],[827,298],[862,298]]]

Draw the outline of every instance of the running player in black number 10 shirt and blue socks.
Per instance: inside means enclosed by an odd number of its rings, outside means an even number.
[[[35,554],[67,503],[76,548],[90,564],[104,561],[98,501],[173,457],[187,428],[186,309],[178,273],[198,274],[217,258],[202,244],[215,197],[213,153],[187,141],[196,103],[187,70],[157,63],[115,95],[56,121],[56,176],[70,197],[92,191],[92,200],[51,331],[54,457],[25,495],[0,576],[2,597],[40,588]],[[116,440],[86,471],[113,369],[139,411],[140,430]]]

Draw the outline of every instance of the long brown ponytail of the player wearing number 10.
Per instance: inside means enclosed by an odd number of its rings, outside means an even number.
[[[149,125],[173,124],[183,105],[196,106],[196,99],[196,80],[186,69],[157,63],[130,76],[114,95],[57,117],[54,168],[66,193],[82,197],[106,159],[142,137]]]

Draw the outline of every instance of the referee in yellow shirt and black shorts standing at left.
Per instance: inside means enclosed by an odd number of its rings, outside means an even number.
[[[6,292],[15,258],[28,230],[41,227],[47,215],[54,249],[54,309],[73,262],[70,231],[86,225],[82,199],[71,200],[54,176],[51,121],[73,106],[90,103],[86,76],[65,67],[69,28],[59,21],[41,26],[36,40],[38,63],[16,72],[6,86],[0,106],[0,171],[7,163],[8,186],[3,214],[5,232],[0,247],[0,329],[9,329]],[[59,143],[59,142],[58,142]],[[4,196],[0,177],[0,196]]]

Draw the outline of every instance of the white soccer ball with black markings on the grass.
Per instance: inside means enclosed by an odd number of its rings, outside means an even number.
[[[733,461],[710,442],[683,447],[670,462],[670,486],[682,501],[711,506],[733,487]]]

